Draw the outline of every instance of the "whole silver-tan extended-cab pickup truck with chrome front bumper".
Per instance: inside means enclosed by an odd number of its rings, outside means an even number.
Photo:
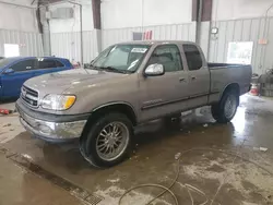
[[[87,161],[109,167],[129,154],[140,123],[206,105],[217,122],[230,121],[250,79],[250,65],[207,63],[193,43],[122,43],[85,69],[28,80],[16,108],[35,136],[79,138]]]

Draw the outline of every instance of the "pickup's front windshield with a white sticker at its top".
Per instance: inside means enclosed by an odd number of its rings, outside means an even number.
[[[105,49],[91,64],[91,69],[133,73],[138,70],[149,45],[116,45]]]

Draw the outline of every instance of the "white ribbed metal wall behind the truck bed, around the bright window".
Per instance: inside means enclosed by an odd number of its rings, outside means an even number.
[[[230,41],[253,41],[253,72],[261,74],[273,69],[273,17],[266,20],[263,34],[264,23],[264,17],[212,22],[212,26],[218,27],[218,34],[211,35],[210,61],[226,62]],[[259,44],[262,38],[268,39],[266,45]]]

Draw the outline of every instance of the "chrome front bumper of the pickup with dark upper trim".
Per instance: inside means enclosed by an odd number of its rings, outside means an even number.
[[[16,101],[21,124],[35,136],[48,142],[64,142],[78,138],[90,114],[58,116],[31,110],[20,99]]]

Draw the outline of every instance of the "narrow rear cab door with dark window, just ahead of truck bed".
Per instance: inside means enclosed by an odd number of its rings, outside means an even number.
[[[210,70],[202,50],[194,44],[183,44],[183,53],[188,64],[190,96],[189,108],[207,104],[210,92]]]

